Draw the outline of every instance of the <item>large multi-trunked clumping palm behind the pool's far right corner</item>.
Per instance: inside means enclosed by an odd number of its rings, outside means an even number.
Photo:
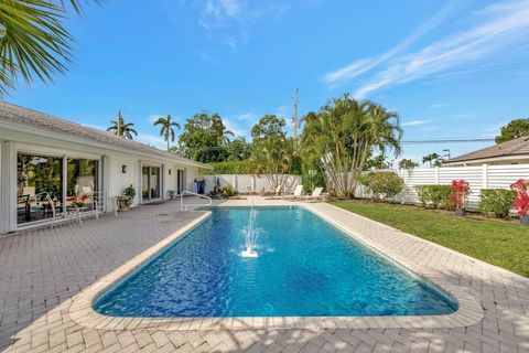
[[[345,197],[354,195],[358,175],[374,150],[400,153],[397,113],[369,100],[358,101],[344,95],[303,117],[301,136],[303,157],[319,159],[327,185]]]

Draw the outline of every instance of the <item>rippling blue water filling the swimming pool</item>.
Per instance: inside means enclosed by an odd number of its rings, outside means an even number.
[[[185,237],[101,296],[117,317],[422,315],[457,304],[299,207],[261,207],[258,258],[242,258],[250,208],[213,208]]]

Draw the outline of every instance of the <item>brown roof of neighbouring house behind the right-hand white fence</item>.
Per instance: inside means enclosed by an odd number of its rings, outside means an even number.
[[[445,163],[471,162],[523,154],[529,156],[529,137],[527,136],[449,159]]]

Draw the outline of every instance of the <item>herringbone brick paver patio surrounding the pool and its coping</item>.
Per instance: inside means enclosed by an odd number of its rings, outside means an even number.
[[[245,322],[234,321],[233,329],[187,331],[98,330],[73,321],[74,296],[201,215],[176,212],[176,203],[169,202],[138,207],[117,218],[89,220],[80,227],[68,224],[0,237],[0,350],[529,352],[528,279],[328,204],[311,206],[342,217],[364,240],[388,255],[462,288],[483,306],[484,320],[456,329],[363,330],[245,330]],[[131,320],[123,319],[123,327]]]

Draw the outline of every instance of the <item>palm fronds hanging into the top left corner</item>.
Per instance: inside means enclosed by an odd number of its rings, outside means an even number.
[[[19,77],[53,82],[72,60],[72,35],[63,22],[67,7],[82,13],[82,0],[0,1],[0,94],[13,88]],[[95,2],[99,2],[95,0]]]

